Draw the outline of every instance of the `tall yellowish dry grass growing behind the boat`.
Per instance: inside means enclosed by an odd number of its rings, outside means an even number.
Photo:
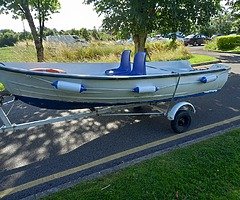
[[[47,43],[44,46],[46,62],[119,62],[124,49],[134,49],[133,45],[116,45],[111,42],[95,42],[87,47]],[[172,46],[169,42],[155,42],[148,43],[147,49],[152,61],[190,59],[192,63],[199,63],[212,60],[210,57],[192,56],[182,44]],[[133,60],[133,53],[131,59]],[[22,42],[14,47],[0,48],[0,61],[35,62],[34,46],[31,42],[28,45]]]

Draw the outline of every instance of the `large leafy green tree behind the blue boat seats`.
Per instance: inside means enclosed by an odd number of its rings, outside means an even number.
[[[104,15],[103,26],[113,32],[130,33],[135,51],[143,51],[153,30],[186,32],[206,23],[220,7],[220,0],[85,0]]]

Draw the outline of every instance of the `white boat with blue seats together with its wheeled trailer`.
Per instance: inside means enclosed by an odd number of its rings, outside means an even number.
[[[193,68],[188,61],[146,62],[138,52],[130,62],[130,50],[123,51],[120,63],[0,63],[0,119],[4,131],[42,126],[92,116],[166,116],[174,132],[188,130],[192,114],[189,102],[175,99],[219,91],[228,79],[230,67],[213,64]],[[12,100],[5,102],[5,96]],[[12,123],[4,106],[21,100],[46,109],[80,109],[76,114]],[[165,108],[161,107],[169,102]],[[129,108],[151,107],[150,112],[129,112]],[[82,108],[89,108],[82,111]]]

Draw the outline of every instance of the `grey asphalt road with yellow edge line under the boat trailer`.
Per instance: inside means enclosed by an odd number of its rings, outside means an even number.
[[[213,55],[201,47],[192,47],[191,51]],[[196,106],[197,113],[192,131],[185,134],[174,135],[163,117],[142,116],[92,117],[3,133],[0,141],[0,197],[21,199],[238,126],[240,55],[214,55],[231,65],[231,76],[220,92],[188,99]],[[18,103],[9,117],[19,123],[71,112],[39,110]]]

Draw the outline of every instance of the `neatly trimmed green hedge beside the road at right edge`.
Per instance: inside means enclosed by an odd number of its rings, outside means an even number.
[[[233,50],[240,46],[240,35],[217,37],[216,43],[218,50]]]

